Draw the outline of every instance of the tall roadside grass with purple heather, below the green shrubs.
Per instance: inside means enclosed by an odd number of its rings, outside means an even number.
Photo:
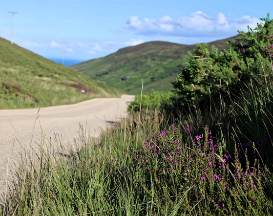
[[[272,215],[273,83],[263,80],[207,113],[132,112],[99,140],[81,129],[76,152],[47,141],[22,157],[2,215]]]

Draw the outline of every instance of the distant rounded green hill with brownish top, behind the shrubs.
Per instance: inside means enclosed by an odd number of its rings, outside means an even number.
[[[228,48],[226,42],[238,36],[209,42],[219,50]],[[144,93],[152,89],[172,90],[172,81],[190,59],[188,51],[196,45],[174,44],[165,41],[151,41],[134,47],[125,47],[106,57],[91,59],[72,66],[73,69],[127,94]]]

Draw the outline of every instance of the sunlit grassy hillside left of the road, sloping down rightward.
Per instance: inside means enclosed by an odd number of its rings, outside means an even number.
[[[0,37],[0,109],[69,104],[120,93]]]

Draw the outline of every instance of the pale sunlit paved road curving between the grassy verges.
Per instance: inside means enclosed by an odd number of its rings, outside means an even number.
[[[123,95],[121,98],[97,98],[40,110],[0,110],[0,192],[5,191],[7,167],[12,169],[13,161],[20,158],[22,147],[37,148],[42,132],[47,140],[54,139],[54,133],[62,135],[66,145],[78,138],[81,124],[90,130],[91,137],[97,137],[110,122],[126,116],[127,102],[132,100],[133,96]]]

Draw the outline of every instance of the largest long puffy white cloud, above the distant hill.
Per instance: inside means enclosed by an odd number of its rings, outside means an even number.
[[[131,16],[125,28],[142,35],[171,35],[181,37],[222,37],[233,36],[238,30],[246,30],[249,25],[257,26],[261,20],[242,16],[237,19],[228,19],[223,13],[211,17],[202,11],[196,11],[191,16],[181,16],[174,20],[170,16],[160,18],[144,18]]]

